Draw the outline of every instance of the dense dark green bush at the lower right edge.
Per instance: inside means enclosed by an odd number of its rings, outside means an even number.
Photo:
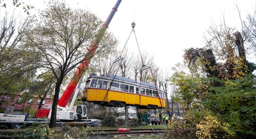
[[[255,137],[256,81],[253,75],[219,82],[223,85],[210,88],[205,108],[212,110],[219,120],[229,123],[237,137]]]

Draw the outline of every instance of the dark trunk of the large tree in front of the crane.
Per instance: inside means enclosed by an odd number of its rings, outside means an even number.
[[[59,100],[59,93],[60,93],[60,84],[61,81],[60,79],[57,80],[56,86],[55,86],[55,93],[53,97],[53,102],[52,102],[52,113],[51,113],[51,119],[50,119],[50,128],[56,127],[56,113],[57,113],[57,105],[58,105],[58,100]]]

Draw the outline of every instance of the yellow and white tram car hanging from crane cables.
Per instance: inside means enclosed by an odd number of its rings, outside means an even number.
[[[110,85],[112,81],[113,83]],[[164,93],[159,89],[157,91],[154,84],[145,82],[137,84],[133,79],[115,77],[112,74],[109,77],[91,74],[86,81],[82,100],[102,106],[126,105],[138,106],[142,109],[165,108]]]

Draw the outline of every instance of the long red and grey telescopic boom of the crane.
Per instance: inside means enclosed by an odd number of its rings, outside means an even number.
[[[87,51],[87,55],[84,58],[84,61],[78,66],[76,73],[72,77],[71,81],[69,82],[66,90],[63,92],[62,97],[58,101],[58,105],[61,107],[66,107],[68,104],[68,100],[70,99],[72,93],[76,89],[76,85],[78,84],[79,80],[82,77],[82,74],[87,70],[89,63],[92,59],[92,56],[95,53],[95,50],[98,48],[99,42],[104,36],[104,33],[106,32],[109,23],[111,22],[112,18],[114,17],[118,6],[120,5],[122,0],[117,0],[115,6],[112,8],[112,11],[108,15],[107,20],[105,21],[105,24],[101,27],[100,31],[98,32],[97,36],[95,37],[95,40],[90,45],[90,48]]]

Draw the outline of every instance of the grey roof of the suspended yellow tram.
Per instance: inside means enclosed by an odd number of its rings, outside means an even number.
[[[104,80],[112,81],[114,79],[114,77],[115,77],[115,75],[113,75],[113,74],[110,74],[109,77],[92,74],[92,75],[90,75],[90,77],[88,79],[97,78],[97,79],[104,79]],[[154,90],[156,90],[156,87],[157,87],[157,90],[162,91],[162,90],[158,89],[157,85],[155,87],[155,84],[150,84],[150,83],[145,83],[145,82],[135,83],[135,80],[121,77],[121,76],[116,76],[114,81],[120,82],[120,83],[125,83],[125,84],[132,84],[132,85],[136,85],[136,86],[140,86],[140,87],[146,87],[146,88],[150,88],[150,89],[154,89]]]

